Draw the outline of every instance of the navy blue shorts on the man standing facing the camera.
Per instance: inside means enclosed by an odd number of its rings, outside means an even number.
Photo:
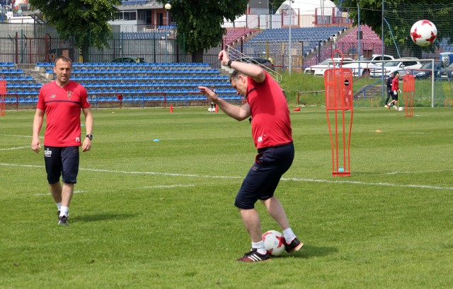
[[[59,182],[60,176],[62,176],[62,181],[67,184],[77,182],[77,174],[79,173],[78,146],[63,148],[44,146],[44,160],[49,184]]]

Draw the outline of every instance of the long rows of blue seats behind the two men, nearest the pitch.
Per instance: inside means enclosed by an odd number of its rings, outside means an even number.
[[[52,74],[53,79],[53,66],[52,62],[37,63],[35,70]],[[74,63],[73,66],[71,80],[84,85],[95,107],[119,102],[142,106],[147,102],[207,104],[207,98],[197,89],[199,85],[214,86],[220,97],[231,102],[241,101],[231,88],[229,77],[205,63]],[[31,94],[30,87],[25,88]],[[25,94],[21,90],[20,95]],[[21,103],[25,102],[24,99]]]

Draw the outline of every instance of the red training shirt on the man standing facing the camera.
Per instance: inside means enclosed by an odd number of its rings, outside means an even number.
[[[69,81],[64,87],[56,81],[42,86],[38,109],[45,110],[45,146],[81,146],[80,111],[90,107],[83,85]]]

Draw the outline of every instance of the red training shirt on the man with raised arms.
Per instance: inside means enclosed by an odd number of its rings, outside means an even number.
[[[265,72],[257,83],[248,76],[247,102],[252,116],[252,136],[256,148],[281,146],[292,142],[288,104],[280,85]]]

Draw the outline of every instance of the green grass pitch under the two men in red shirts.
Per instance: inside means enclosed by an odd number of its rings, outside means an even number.
[[[351,177],[331,174],[323,108],[291,112],[296,157],[276,194],[306,246],[260,264],[235,261],[250,249],[233,205],[256,155],[247,121],[94,111],[62,228],[30,150],[34,111],[6,114],[0,288],[453,287],[451,108],[355,109]],[[263,231],[280,230],[257,208]]]

